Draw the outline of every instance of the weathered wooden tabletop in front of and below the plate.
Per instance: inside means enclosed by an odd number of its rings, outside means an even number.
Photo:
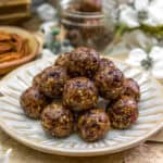
[[[10,163],[163,163],[163,145],[142,143],[134,149],[101,156],[70,158],[46,154],[13,140],[0,129],[0,145],[12,148]]]

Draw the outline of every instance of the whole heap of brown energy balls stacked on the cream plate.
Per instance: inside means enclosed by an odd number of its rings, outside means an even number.
[[[106,108],[97,106],[99,97],[108,101]],[[125,129],[136,122],[139,99],[133,78],[125,78],[95,49],[79,47],[37,74],[20,101],[25,114],[40,118],[52,136],[75,131],[90,142],[103,138],[111,127]]]

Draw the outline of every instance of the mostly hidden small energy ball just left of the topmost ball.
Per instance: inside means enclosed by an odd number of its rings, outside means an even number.
[[[60,54],[58,59],[55,60],[54,65],[59,65],[59,66],[67,68],[68,61],[70,61],[68,57],[70,57],[68,52]]]

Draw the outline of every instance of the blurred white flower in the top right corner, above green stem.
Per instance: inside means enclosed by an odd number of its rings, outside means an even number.
[[[163,25],[163,0],[131,0],[133,4],[120,7],[120,23],[129,28],[139,27],[140,23],[150,26]]]

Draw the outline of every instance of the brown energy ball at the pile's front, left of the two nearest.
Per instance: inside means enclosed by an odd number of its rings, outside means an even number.
[[[49,104],[41,114],[45,130],[55,137],[66,137],[73,131],[73,114],[59,102]]]

